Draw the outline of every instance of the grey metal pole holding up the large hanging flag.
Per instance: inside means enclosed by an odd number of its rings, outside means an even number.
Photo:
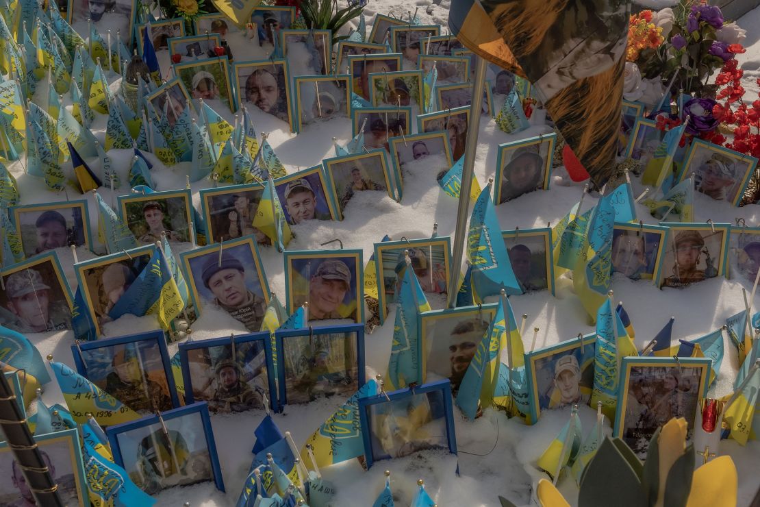
[[[475,78],[473,79],[470,103],[470,121],[467,122],[467,144],[464,146],[464,164],[462,167],[462,182],[459,189],[459,208],[457,209],[457,228],[454,232],[454,263],[451,277],[448,280],[448,307],[454,308],[459,290],[459,271],[464,256],[464,239],[467,238],[467,215],[470,211],[470,189],[472,189],[473,170],[475,168],[475,151],[477,136],[480,132],[480,92],[486,81],[486,60],[478,55],[475,59]]]

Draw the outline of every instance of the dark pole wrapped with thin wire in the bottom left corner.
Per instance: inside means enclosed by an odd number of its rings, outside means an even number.
[[[8,447],[11,448],[18,469],[24,474],[37,505],[63,507],[58,485],[52,481],[47,463],[43,461],[40,449],[27,426],[26,414],[22,414],[5,375],[0,375],[0,428],[0,435],[5,435],[8,440]]]

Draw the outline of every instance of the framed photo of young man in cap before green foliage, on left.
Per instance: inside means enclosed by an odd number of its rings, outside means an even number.
[[[166,239],[192,242],[192,198],[189,190],[169,190],[152,194],[119,195],[119,211],[138,242],[150,245]]]

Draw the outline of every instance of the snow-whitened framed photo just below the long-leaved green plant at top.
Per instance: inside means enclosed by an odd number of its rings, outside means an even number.
[[[331,74],[331,30],[282,30],[283,55],[293,74],[315,76]],[[335,72],[337,74],[337,72]]]

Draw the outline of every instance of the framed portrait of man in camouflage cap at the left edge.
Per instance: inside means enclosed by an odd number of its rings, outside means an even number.
[[[49,261],[46,261],[49,262]],[[45,276],[43,276],[43,274]],[[71,308],[52,266],[36,265],[4,277],[4,308],[0,320],[6,328],[25,333],[71,329]]]

